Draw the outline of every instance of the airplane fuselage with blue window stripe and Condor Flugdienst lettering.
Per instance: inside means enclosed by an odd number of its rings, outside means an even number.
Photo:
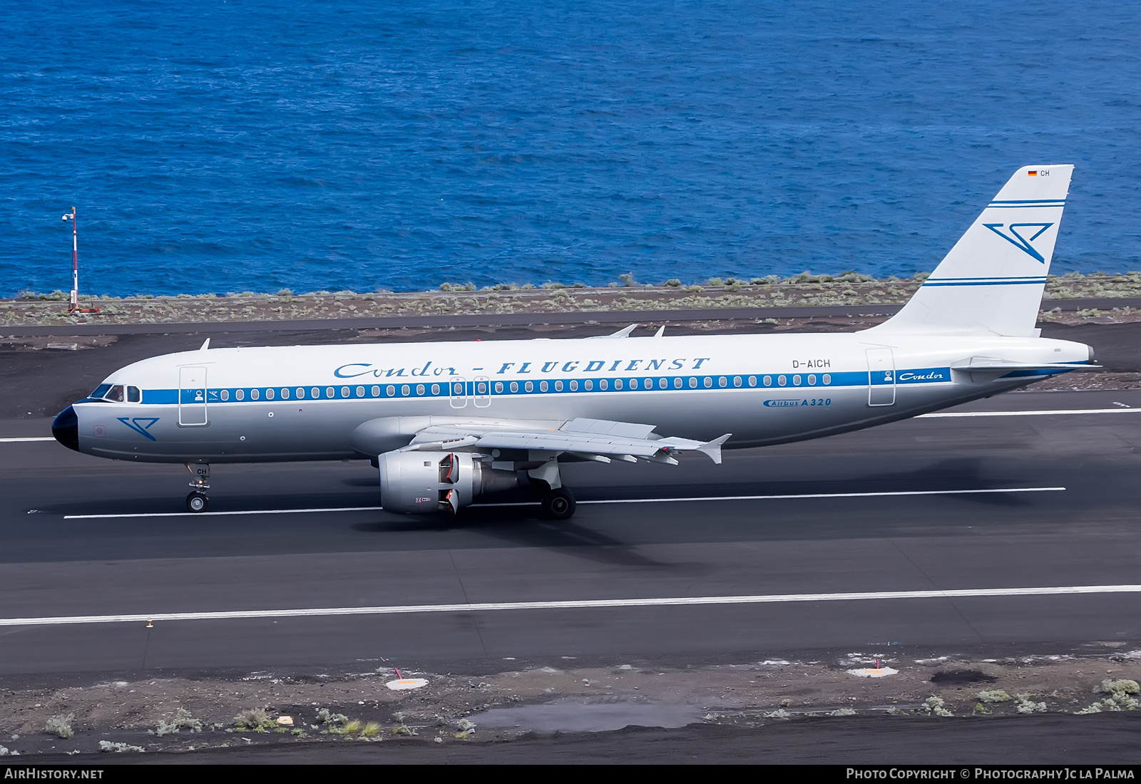
[[[112,374],[122,402],[74,403],[75,446],[160,463],[345,459],[375,457],[351,434],[380,417],[552,430],[585,417],[756,447],[955,406],[1090,359],[1068,341],[873,333],[210,349]],[[970,369],[996,361],[1057,367]]]

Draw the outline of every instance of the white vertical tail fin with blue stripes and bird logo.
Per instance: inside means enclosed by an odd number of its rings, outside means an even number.
[[[877,332],[1034,335],[1071,165],[1023,166]]]

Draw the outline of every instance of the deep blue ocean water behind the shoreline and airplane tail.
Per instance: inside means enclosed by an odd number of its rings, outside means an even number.
[[[1076,163],[1053,271],[1141,268],[1141,7],[8,0],[0,294],[929,270]]]

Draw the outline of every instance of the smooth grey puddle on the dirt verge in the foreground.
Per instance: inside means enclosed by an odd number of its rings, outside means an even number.
[[[607,700],[558,700],[543,705],[493,708],[471,717],[477,727],[521,729],[536,733],[601,733],[623,727],[685,727],[701,720],[693,705],[654,705]]]

